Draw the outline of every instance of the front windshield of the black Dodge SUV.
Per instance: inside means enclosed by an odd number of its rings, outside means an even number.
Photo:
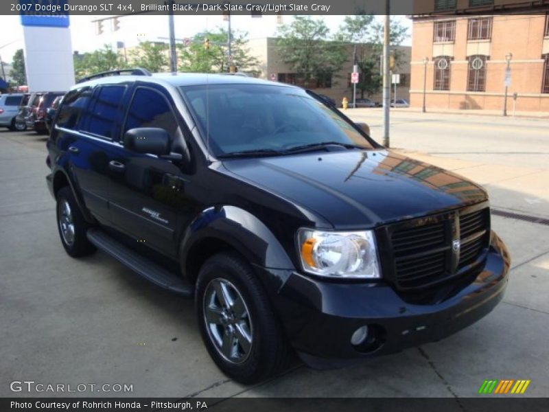
[[[373,144],[305,91],[257,84],[181,87],[216,156],[237,152],[285,152],[299,146]],[[208,137],[207,137],[208,138]]]

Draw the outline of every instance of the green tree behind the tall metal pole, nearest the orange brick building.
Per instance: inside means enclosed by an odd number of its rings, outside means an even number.
[[[338,40],[355,43],[356,64],[360,69],[357,89],[361,98],[364,95],[373,95],[382,87],[383,78],[379,65],[383,55],[384,27],[383,23],[372,14],[355,14],[346,16],[340,31],[336,36]],[[393,21],[390,25],[390,46],[395,58],[395,71],[401,64],[401,52],[395,46],[401,45],[408,38],[408,27],[399,21]]]

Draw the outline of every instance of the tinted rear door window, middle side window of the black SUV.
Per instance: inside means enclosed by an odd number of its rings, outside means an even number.
[[[118,107],[126,91],[124,86],[101,87],[91,105],[85,130],[103,137],[112,137]]]

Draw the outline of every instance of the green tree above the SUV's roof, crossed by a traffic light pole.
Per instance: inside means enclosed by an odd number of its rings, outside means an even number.
[[[228,47],[229,34],[218,28],[211,32],[196,34],[187,46],[177,45],[180,69],[196,73],[226,73],[229,71]],[[209,48],[205,47],[205,40]],[[233,31],[231,41],[231,56],[233,65],[238,71],[255,71],[259,64],[257,58],[250,56],[246,41],[246,33]]]

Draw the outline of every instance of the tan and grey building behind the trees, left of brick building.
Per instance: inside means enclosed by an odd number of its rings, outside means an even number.
[[[316,84],[303,84],[299,73],[295,73],[292,68],[287,65],[282,56],[280,56],[277,47],[277,38],[264,37],[251,39],[247,47],[250,49],[250,54],[259,60],[257,73],[259,77],[284,82],[288,84],[296,84],[297,86],[307,87],[314,90],[316,93],[327,95],[336,100],[338,104],[343,98],[347,98],[349,102],[353,100],[353,84],[351,84],[351,72],[353,71],[353,43],[346,45],[349,60],[344,63],[342,69],[338,73],[334,73],[331,78],[325,78]],[[363,47],[358,45],[357,47]],[[367,46],[366,46],[367,47]],[[395,74],[399,74],[400,82],[397,84],[397,99],[410,98],[410,47],[397,47],[399,59]],[[391,98],[394,98],[395,86],[391,87]],[[370,98],[376,102],[382,102],[382,89],[374,95],[364,95],[365,98]],[[357,89],[357,99],[360,98],[360,92]]]

